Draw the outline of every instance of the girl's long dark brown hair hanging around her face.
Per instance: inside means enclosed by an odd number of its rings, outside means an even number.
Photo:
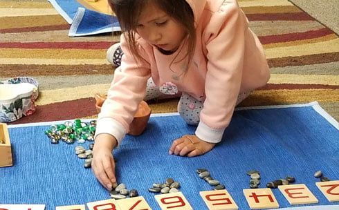
[[[136,46],[136,27],[138,26],[138,18],[148,3],[155,3],[158,8],[185,28],[187,33],[185,38],[187,42],[187,54],[185,57],[188,58],[187,65],[190,64],[194,55],[196,31],[192,8],[185,0],[109,0],[109,6],[111,6],[116,17],[118,17],[120,27],[122,32],[125,32],[129,49],[134,54],[134,58],[141,58]],[[180,61],[185,59],[185,57]]]

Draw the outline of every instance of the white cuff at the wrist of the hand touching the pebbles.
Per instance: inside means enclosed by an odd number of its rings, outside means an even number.
[[[113,135],[113,137],[115,137],[118,141],[119,146],[126,135],[126,130],[120,122],[112,119],[111,117],[104,117],[97,121],[94,139],[102,133]]]

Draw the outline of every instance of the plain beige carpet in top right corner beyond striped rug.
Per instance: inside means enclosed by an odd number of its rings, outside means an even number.
[[[339,0],[289,0],[339,35]]]

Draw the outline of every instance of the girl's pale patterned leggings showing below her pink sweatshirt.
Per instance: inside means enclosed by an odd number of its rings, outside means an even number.
[[[246,97],[248,97],[250,93],[241,93],[238,95],[237,105],[240,104]],[[180,97],[178,102],[178,113],[183,117],[183,120],[187,124],[197,125],[199,124],[199,115],[200,111],[203,108],[203,102],[195,99],[191,95],[187,93],[178,93],[175,95],[165,95],[161,93],[159,87],[157,87],[152,78],[150,78],[147,82],[146,96],[145,101],[149,101],[151,99],[164,99],[164,98],[176,98]]]

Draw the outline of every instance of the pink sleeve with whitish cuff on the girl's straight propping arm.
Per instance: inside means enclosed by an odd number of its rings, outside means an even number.
[[[208,52],[206,99],[196,135],[206,142],[220,142],[230,123],[241,86],[247,30],[244,13],[232,3],[214,12],[205,30]]]

